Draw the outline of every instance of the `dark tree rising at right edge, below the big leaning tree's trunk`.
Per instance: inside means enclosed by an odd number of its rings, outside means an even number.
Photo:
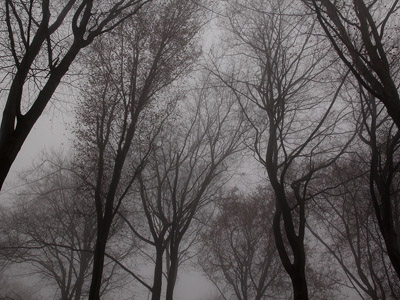
[[[399,145],[400,131],[371,94],[360,92],[362,141],[370,150],[370,199],[387,254],[400,278]]]

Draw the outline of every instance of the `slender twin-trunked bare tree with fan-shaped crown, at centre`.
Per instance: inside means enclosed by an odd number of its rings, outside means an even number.
[[[173,299],[178,267],[198,238],[198,213],[226,182],[229,158],[240,150],[243,116],[228,97],[226,89],[209,87],[188,95],[164,124],[138,177],[144,217],[124,219],[154,250],[153,300],[161,297],[164,258],[166,299]],[[142,219],[147,228],[133,225]]]

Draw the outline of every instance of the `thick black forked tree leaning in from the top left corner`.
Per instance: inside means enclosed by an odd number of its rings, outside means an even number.
[[[0,89],[5,105],[0,127],[0,189],[79,52],[147,2],[2,1]]]

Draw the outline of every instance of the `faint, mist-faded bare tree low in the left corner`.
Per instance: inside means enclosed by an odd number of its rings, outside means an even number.
[[[2,215],[0,256],[55,286],[60,299],[79,300],[88,292],[95,210],[72,164],[58,154],[45,155],[24,173],[14,207]]]

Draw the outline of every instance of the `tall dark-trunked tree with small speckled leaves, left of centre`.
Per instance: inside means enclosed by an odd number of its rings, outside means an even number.
[[[173,106],[166,89],[199,55],[194,38],[201,15],[193,1],[153,1],[91,48],[92,75],[77,123],[80,172],[93,188],[97,217],[91,300],[99,299],[114,217],[147,155],[133,157],[153,147]]]

